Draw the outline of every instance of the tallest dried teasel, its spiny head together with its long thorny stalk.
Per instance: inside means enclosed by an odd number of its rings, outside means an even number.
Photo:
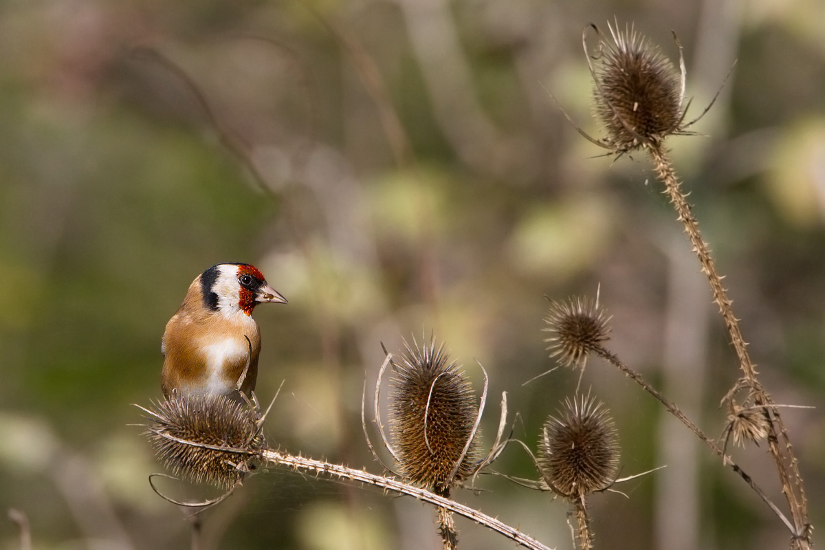
[[[663,192],[676,209],[677,219],[690,237],[701,270],[707,276],[714,302],[719,306],[742,370],[741,380],[724,401],[733,401],[739,390],[747,389],[746,408],[761,411],[765,416],[768,449],[793,518],[790,529],[794,541],[792,548],[808,548],[811,525],[808,523],[808,505],[794,449],[775,403],[757,378],[757,370],[747,353],[747,343],[733,314],[722,276],[716,270],[709,247],[700,233],[699,223],[691,212],[691,204],[664,148],[668,136],[691,134],[689,128],[698,120],[685,122],[686,74],[681,45],[676,40],[681,68],[681,73],[676,73],[672,63],[632,27],[625,28],[624,32],[610,27],[610,39],[601,35],[596,26],[592,29],[598,37],[597,54],[592,56],[588,52],[584,40],[587,31],[582,42],[595,84],[596,118],[604,127],[606,138],[596,140],[585,135],[611,153],[621,155],[643,150],[653,160],[658,179],[664,186]],[[747,407],[751,403],[753,407]]]

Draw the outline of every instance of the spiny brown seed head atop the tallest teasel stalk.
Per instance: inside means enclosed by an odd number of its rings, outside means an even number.
[[[624,32],[608,27],[612,40],[596,29],[595,68],[588,56],[596,118],[606,130],[606,146],[614,153],[628,153],[685,133],[684,73],[676,72],[670,60],[632,26]]]

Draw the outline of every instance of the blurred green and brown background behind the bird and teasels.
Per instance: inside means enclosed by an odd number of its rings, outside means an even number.
[[[577,373],[551,369],[544,299],[595,296],[610,348],[711,436],[738,377],[686,237],[643,155],[587,132],[590,21],[635,28],[677,63],[696,137],[669,141],[783,404],[825,395],[825,4],[815,0],[318,0],[0,3],[0,547],[6,510],[36,548],[186,548],[191,512],[156,496],[132,403],[161,397],[160,337],[220,261],[290,300],[262,306],[258,395],[283,383],[271,444],[351,466],[381,344],[436,335],[476,387],[490,444]],[[738,60],[735,66],[734,60]],[[619,430],[621,474],[591,501],[598,545],[786,548],[788,534],[653,399],[593,360],[582,388]],[[371,393],[368,392],[368,402]],[[786,409],[811,519],[825,520],[822,409]],[[782,506],[761,448],[736,458]],[[535,479],[508,449],[495,469]],[[567,506],[483,476],[457,498],[571,548]],[[171,483],[172,496],[204,493]],[[207,491],[206,496],[214,496]],[[440,548],[432,510],[380,491],[263,472],[202,515],[200,548]],[[458,519],[464,548],[512,548]],[[600,542],[601,541],[601,542]]]

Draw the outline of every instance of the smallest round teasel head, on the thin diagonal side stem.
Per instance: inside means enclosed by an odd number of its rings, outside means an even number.
[[[587,355],[601,348],[601,343],[610,336],[610,316],[599,307],[598,299],[582,297],[568,299],[567,302],[550,302],[550,310],[544,322],[544,331],[553,336],[545,338],[549,342],[547,350],[563,366],[583,366]]]

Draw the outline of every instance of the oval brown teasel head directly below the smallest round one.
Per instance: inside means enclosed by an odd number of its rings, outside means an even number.
[[[566,399],[544,423],[538,463],[544,483],[570,501],[609,487],[619,466],[610,411],[589,395]]]

